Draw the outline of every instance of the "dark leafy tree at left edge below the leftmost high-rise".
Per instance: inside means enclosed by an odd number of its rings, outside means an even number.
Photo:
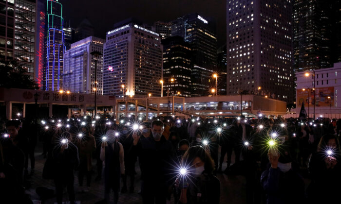
[[[37,83],[30,79],[26,69],[14,61],[0,61],[0,87],[38,89]]]

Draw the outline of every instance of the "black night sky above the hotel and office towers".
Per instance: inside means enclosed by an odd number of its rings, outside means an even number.
[[[77,27],[87,17],[95,35],[105,38],[114,23],[129,17],[141,17],[147,23],[170,21],[197,12],[216,21],[218,47],[226,42],[226,0],[59,0],[65,21]],[[65,23],[64,23],[65,24]]]

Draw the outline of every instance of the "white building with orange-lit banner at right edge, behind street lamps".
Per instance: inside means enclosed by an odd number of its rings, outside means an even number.
[[[333,68],[296,72],[296,78],[297,114],[304,102],[307,114],[313,118],[315,98],[315,118],[341,118],[341,62]]]

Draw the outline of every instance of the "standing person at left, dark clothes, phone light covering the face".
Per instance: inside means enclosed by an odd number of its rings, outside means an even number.
[[[79,165],[78,149],[72,142],[70,133],[64,132],[59,137],[59,144],[53,149],[54,175],[57,204],[62,204],[63,187],[66,186],[70,204],[75,204],[74,170]]]

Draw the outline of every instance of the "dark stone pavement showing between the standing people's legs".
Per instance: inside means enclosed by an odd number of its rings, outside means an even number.
[[[36,193],[37,187],[47,187],[50,189],[54,188],[54,182],[52,180],[46,180],[42,178],[42,170],[44,166],[45,159],[41,155],[42,149],[41,145],[38,144],[38,147],[36,149],[36,170],[34,175],[30,178],[31,181],[31,187],[26,189],[26,193],[31,195],[32,200],[37,200],[36,204],[39,204],[39,196]],[[219,153],[220,155],[220,153]],[[232,162],[234,160],[234,155],[232,155]],[[226,168],[226,163],[223,166],[223,170]],[[30,169],[30,167],[29,167]],[[104,199],[104,180],[102,178],[101,181],[94,181],[96,176],[96,170],[95,170],[95,161],[93,165],[93,176],[92,176],[92,183],[91,183],[91,189],[90,192],[87,193],[81,193],[77,192],[78,187],[78,178],[77,178],[77,172],[75,173],[75,192],[76,192],[76,201],[80,201],[80,204],[95,204],[98,201],[101,201]],[[119,204],[141,204],[142,203],[142,197],[138,194],[138,191],[140,190],[140,170],[138,165],[136,165],[136,171],[137,174],[135,176],[135,190],[134,193],[124,193],[119,194]],[[222,173],[219,173],[218,178],[221,183],[221,193],[220,193],[220,203],[221,204],[245,204],[246,203],[246,181],[245,177],[241,175],[225,175]],[[86,178],[85,178],[86,179]],[[84,183],[86,183],[84,181]],[[128,185],[129,185],[129,177],[128,177]],[[122,187],[122,184],[121,184]],[[129,187],[129,186],[128,186]],[[111,194],[111,197],[113,194]],[[113,200],[111,198],[111,200]],[[65,193],[63,195],[63,201],[68,201],[68,195]],[[56,202],[56,198],[52,198],[49,200],[46,200],[44,204],[54,204]],[[113,201],[112,201],[113,202]]]

